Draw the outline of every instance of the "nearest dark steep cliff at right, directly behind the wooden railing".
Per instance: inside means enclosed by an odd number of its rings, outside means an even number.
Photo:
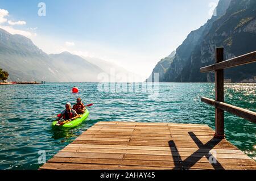
[[[216,47],[224,47],[225,60],[256,50],[256,1],[232,0],[225,15],[218,18],[192,51],[189,60],[175,81],[211,82],[212,73],[202,74],[200,68],[214,64]],[[226,69],[225,78],[232,82],[256,75],[256,64]]]

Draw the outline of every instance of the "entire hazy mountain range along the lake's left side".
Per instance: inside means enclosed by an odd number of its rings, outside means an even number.
[[[86,59],[69,52],[47,54],[27,37],[0,28],[0,68],[9,72],[9,81],[98,82],[100,73],[109,75],[100,68],[101,62],[109,64],[107,61]]]

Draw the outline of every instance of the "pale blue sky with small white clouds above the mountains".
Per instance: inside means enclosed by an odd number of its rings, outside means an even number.
[[[68,51],[101,58],[145,79],[157,62],[211,18],[217,3],[218,0],[0,0],[0,28],[29,37],[48,54]]]

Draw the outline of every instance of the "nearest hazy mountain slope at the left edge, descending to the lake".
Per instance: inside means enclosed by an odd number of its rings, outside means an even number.
[[[67,81],[30,39],[1,28],[0,68],[9,72],[11,81]]]

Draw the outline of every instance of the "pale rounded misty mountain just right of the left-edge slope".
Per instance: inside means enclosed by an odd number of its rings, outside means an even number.
[[[98,82],[98,74],[104,73],[97,65],[69,52],[49,54],[49,57],[69,82]]]

